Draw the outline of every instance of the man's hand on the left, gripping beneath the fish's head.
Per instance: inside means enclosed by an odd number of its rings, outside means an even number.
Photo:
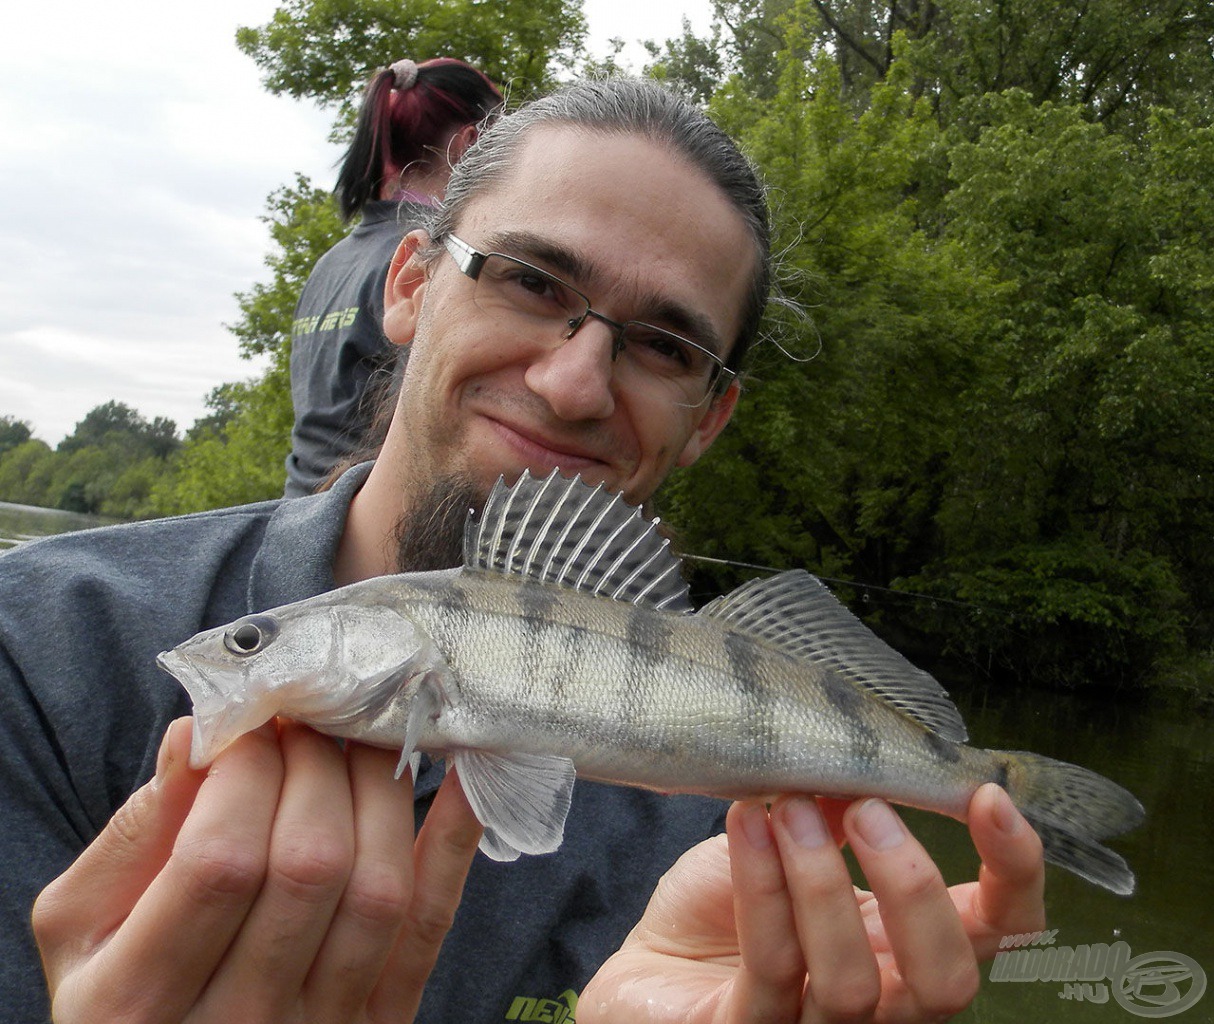
[[[55,1019],[412,1020],[481,836],[455,779],[414,842],[391,751],[271,723],[193,771],[189,735],[39,896]]]

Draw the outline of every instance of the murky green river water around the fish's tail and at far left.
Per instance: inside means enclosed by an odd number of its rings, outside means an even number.
[[[100,524],[92,516],[0,502],[0,549],[33,536]],[[1144,696],[1012,691],[982,680],[953,684],[952,690],[971,742],[1082,764],[1121,782],[1146,807],[1146,824],[1111,843],[1138,875],[1133,896],[1114,896],[1068,872],[1048,869],[1054,946],[1061,951],[1122,941],[1140,961],[1138,966],[1147,968],[1175,966],[1170,955],[1179,954],[1209,973],[1214,988],[1214,712],[1175,697],[1165,702]],[[903,814],[948,882],[975,877],[977,858],[964,826],[923,811]],[[1152,958],[1150,954],[1169,956]],[[1179,979],[1175,989],[1164,981],[1144,985],[1138,997],[1127,1000],[1127,1008],[1111,995],[1107,981],[1070,988],[1057,980],[997,981],[991,971],[983,966],[982,994],[957,1019],[971,1024],[1128,1024],[1138,1017],[1170,1017],[1180,1024],[1214,1022],[1214,991],[1179,1013],[1165,1012],[1180,1006],[1174,1002],[1178,996],[1191,991],[1193,983],[1186,979]],[[1094,1001],[1101,997],[1104,1002]]]

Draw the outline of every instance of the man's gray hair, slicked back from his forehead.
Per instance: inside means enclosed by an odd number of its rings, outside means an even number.
[[[669,146],[715,182],[742,215],[754,238],[755,272],[728,356],[730,368],[738,368],[759,333],[771,290],[766,192],[750,162],[720,128],[654,81],[623,77],[580,81],[498,119],[481,132],[452,171],[446,198],[432,224],[432,238],[436,242],[446,238],[472,199],[507,177],[528,134],[549,125],[571,125],[605,135],[640,135]]]

